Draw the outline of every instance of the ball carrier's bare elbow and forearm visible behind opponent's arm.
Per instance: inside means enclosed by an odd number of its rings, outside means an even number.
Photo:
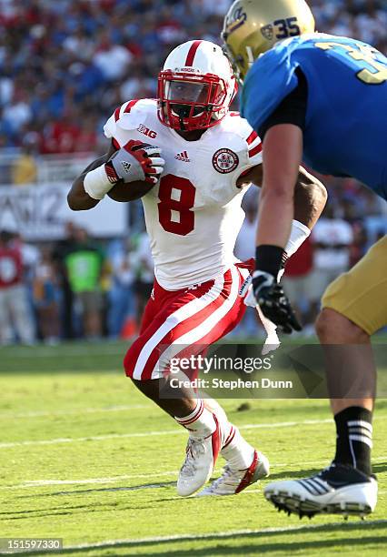
[[[312,176],[303,167],[294,190],[294,218],[310,230],[320,218],[328,198],[322,182]]]

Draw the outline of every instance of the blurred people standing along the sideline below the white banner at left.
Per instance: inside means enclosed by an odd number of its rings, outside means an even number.
[[[154,265],[147,234],[96,241],[67,224],[66,238],[26,243],[0,231],[0,345],[132,338]]]

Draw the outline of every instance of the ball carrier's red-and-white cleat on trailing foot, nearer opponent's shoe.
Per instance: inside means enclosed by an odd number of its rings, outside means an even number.
[[[245,470],[233,470],[230,466],[224,466],[223,474],[213,481],[211,485],[204,488],[198,497],[206,495],[235,495],[245,490],[255,481],[266,478],[270,473],[268,459],[262,452],[254,451],[253,462]]]

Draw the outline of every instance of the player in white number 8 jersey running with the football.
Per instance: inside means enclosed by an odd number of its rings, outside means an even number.
[[[70,208],[82,210],[106,194],[124,202],[140,197],[137,187],[140,194],[147,190],[142,201],[154,291],[124,368],[138,389],[189,431],[177,482],[183,496],[209,480],[219,453],[226,461],[223,474],[201,494],[238,493],[269,473],[266,457],[215,400],[203,400],[189,387],[176,390],[168,373],[173,357],[187,348],[197,355],[229,333],[245,310],[247,289],[240,290],[253,260],[238,261],[233,248],[243,195],[252,182],[262,182],[262,144],[230,111],[236,91],[219,46],[200,40],[178,46],[159,75],[158,99],[132,100],[115,110],[104,127],[109,152],[86,168],[68,196]],[[301,168],[288,255],[309,235],[325,200],[323,185]]]

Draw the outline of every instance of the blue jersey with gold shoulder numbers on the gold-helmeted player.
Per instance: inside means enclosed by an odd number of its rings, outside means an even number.
[[[287,39],[260,56],[243,86],[242,114],[258,130],[298,85],[308,84],[303,161],[355,177],[387,199],[387,58],[333,35]]]

